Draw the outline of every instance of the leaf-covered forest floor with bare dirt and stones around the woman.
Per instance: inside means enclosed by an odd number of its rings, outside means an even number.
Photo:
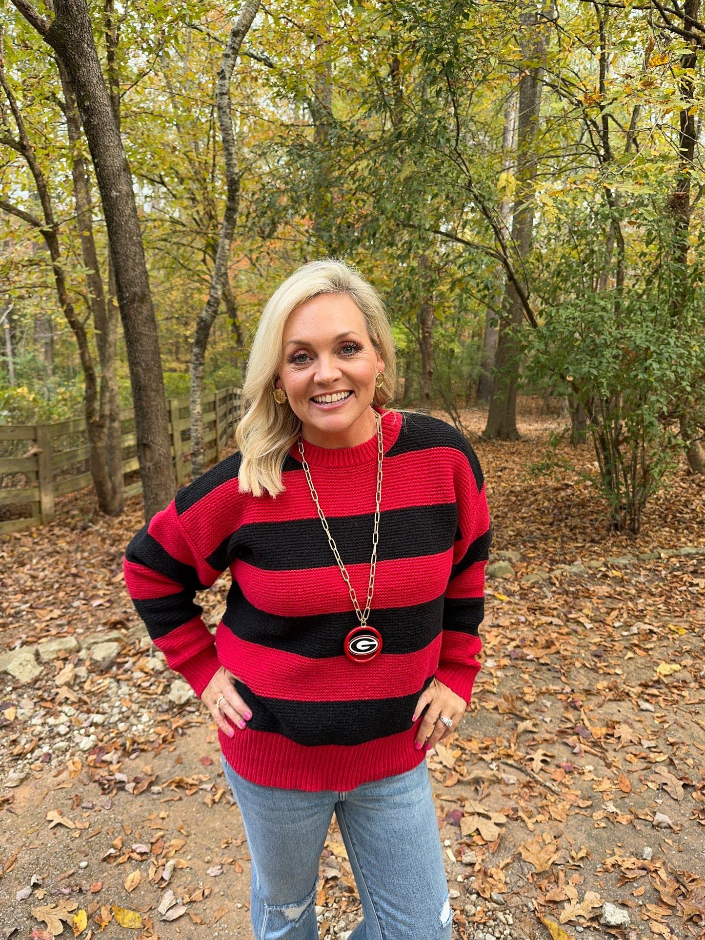
[[[487,582],[471,707],[428,758],[454,936],[703,937],[705,480],[681,466],[638,537],[609,532],[589,446],[549,449],[564,422],[522,407],[521,442],[476,447],[511,572]],[[140,525],[138,499],[105,519],[84,492],[0,537],[0,669],[22,676],[0,678],[5,938],[252,935],[210,715],[124,589]],[[205,592],[209,622],[226,592]],[[321,937],[345,940],[335,825],[323,855]]]

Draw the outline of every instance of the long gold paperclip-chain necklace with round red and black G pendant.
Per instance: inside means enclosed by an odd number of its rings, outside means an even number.
[[[308,489],[311,491],[311,497],[316,504],[316,510],[319,514],[323,531],[325,532],[328,539],[328,544],[331,546],[331,551],[336,558],[337,567],[340,569],[343,581],[348,586],[352,607],[354,608],[355,614],[357,615],[357,619],[360,621],[360,626],[354,627],[351,630],[351,632],[345,637],[345,642],[343,644],[345,655],[349,659],[352,659],[352,661],[355,663],[368,663],[382,651],[382,636],[377,630],[374,629],[374,627],[370,627],[368,624],[369,611],[372,605],[372,595],[374,593],[374,577],[377,570],[377,542],[380,536],[380,503],[382,501],[382,462],[384,460],[382,418],[377,414],[377,412],[375,412],[375,422],[377,425],[377,493],[375,497],[374,529],[372,532],[372,557],[369,562],[368,599],[367,603],[365,604],[365,610],[360,609],[360,604],[357,600],[355,589],[352,587],[350,574],[348,574],[348,570],[343,564],[343,559],[340,557],[340,553],[337,550],[336,540],[333,538],[331,530],[328,526],[328,522],[323,515],[321,503],[319,502],[319,494],[316,492],[316,487],[313,485],[313,480],[311,479],[311,470],[308,466],[308,462],[305,459],[304,438],[301,434],[299,434],[299,454],[301,455],[301,463],[304,467]]]

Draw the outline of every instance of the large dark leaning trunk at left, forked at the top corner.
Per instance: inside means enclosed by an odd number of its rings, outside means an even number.
[[[115,265],[133,387],[137,458],[149,520],[166,506],[175,490],[162,360],[132,174],[102,76],[86,0],[55,0],[51,22],[29,0],[12,3],[61,58],[86,132]]]

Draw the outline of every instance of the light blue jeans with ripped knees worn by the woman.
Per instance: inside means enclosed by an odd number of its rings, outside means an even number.
[[[352,791],[283,790],[223,760],[252,858],[257,940],[318,940],[319,859],[335,812],[365,919],[350,940],[450,940],[450,909],[426,761]]]

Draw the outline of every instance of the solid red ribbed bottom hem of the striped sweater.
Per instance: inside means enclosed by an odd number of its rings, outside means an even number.
[[[236,774],[263,787],[284,790],[348,791],[386,776],[414,770],[425,758],[414,747],[416,729],[365,744],[308,747],[272,731],[218,732],[220,746]]]

